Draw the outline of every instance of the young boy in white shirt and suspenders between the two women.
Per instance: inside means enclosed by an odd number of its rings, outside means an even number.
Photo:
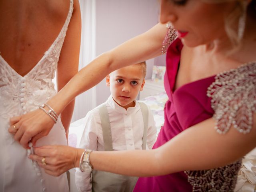
[[[111,95],[86,115],[80,148],[98,151],[152,148],[156,140],[153,115],[148,106],[136,102],[145,76],[146,62],[142,62],[106,77]],[[76,186],[83,192],[132,192],[136,181],[136,177],[96,170],[90,174],[76,169]]]

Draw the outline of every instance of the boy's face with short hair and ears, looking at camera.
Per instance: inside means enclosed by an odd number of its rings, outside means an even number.
[[[134,107],[134,100],[139,91],[143,90],[145,80],[140,65],[131,65],[112,72],[106,78],[106,85],[110,86],[110,92],[114,101],[127,110]]]

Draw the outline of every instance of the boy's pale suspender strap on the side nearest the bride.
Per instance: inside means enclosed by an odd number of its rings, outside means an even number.
[[[112,151],[112,134],[111,127],[109,122],[108,110],[106,104],[102,104],[99,108],[100,112],[100,120],[102,125],[102,134],[103,134],[103,142],[105,151]]]

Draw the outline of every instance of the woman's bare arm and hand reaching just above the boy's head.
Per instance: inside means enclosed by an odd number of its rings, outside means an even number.
[[[166,32],[165,24],[156,24],[144,34],[132,38],[113,50],[98,56],[90,64],[82,68],[47,104],[57,114],[60,114],[77,95],[98,84],[110,72],[159,56]],[[21,116],[21,118],[19,117],[17,123],[16,119],[10,120],[9,132],[15,134],[14,138],[25,148],[31,138],[33,144],[35,144],[40,137],[46,136],[54,124],[53,120],[40,109],[29,112]],[[15,126],[19,128],[18,136],[16,136],[17,133],[12,126],[12,122],[15,122]]]

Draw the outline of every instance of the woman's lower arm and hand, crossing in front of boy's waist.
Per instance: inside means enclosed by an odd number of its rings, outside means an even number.
[[[184,170],[204,170],[232,163],[256,147],[256,114],[250,133],[241,134],[233,127],[218,134],[210,118],[178,134],[154,150],[93,151],[90,163],[96,170],[129,176],[158,176]],[[46,173],[58,176],[70,168],[79,167],[84,150],[67,146],[36,148],[37,160]],[[41,163],[46,157],[48,165]]]

